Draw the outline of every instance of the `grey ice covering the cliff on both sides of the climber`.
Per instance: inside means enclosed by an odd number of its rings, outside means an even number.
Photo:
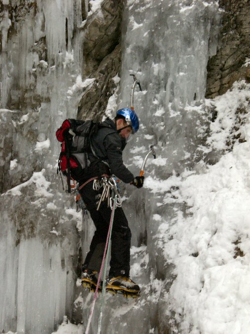
[[[0,103],[11,109],[1,109],[0,118],[2,143],[8,140],[11,146],[9,154],[1,155],[9,180],[2,182],[0,197],[0,330],[5,332],[51,333],[65,313],[71,317],[78,252],[81,246],[85,255],[93,233],[88,219],[81,233],[81,215],[71,209],[72,198],[55,175],[55,130],[65,118],[76,117],[77,103],[94,81],[81,78],[82,3],[3,1]],[[99,14],[101,3],[91,1]],[[166,231],[160,223],[164,217],[173,225],[177,212],[185,212],[178,201],[179,173],[203,156],[197,146],[204,141],[208,115],[201,105],[217,15],[215,1],[125,3],[118,107],[129,105],[130,73],[140,79],[143,92],[135,94],[141,129],[124,160],[137,174],[152,143],[157,159],[148,161],[144,189],[124,189],[123,208],[133,233],[131,277],[143,294],[138,300],[107,296],[104,333],[164,333],[172,321],[165,317],[167,304],[161,298],[174,273],[162,253]],[[84,327],[93,294],[82,295]],[[97,303],[93,333],[99,309]]]

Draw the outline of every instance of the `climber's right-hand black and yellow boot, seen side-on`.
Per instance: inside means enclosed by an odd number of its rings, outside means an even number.
[[[140,294],[139,285],[125,276],[109,277],[106,290],[111,293],[123,293],[126,296],[139,296]]]

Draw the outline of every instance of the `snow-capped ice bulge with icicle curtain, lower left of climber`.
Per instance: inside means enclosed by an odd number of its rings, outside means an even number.
[[[48,171],[0,197],[0,325],[51,333],[71,314],[77,266],[77,219]],[[74,262],[74,265],[72,264]]]

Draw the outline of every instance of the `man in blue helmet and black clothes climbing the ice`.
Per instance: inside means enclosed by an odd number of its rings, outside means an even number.
[[[136,176],[124,166],[122,151],[128,138],[139,129],[139,119],[134,110],[123,108],[117,111],[114,120],[107,118],[98,132],[92,137],[91,145],[94,154],[89,154],[90,170],[88,177],[79,182],[79,186],[89,178],[102,174],[114,174],[124,183],[130,183],[137,188],[143,186],[143,176]],[[87,183],[81,190],[83,201],[90,212],[96,231],[91,241],[90,250],[83,263],[82,285],[85,287],[97,286],[98,273],[107,239],[111,209],[107,201],[97,210],[100,191],[93,189],[93,182]],[[111,234],[111,260],[107,278],[107,291],[140,293],[140,287],[130,279],[130,244],[131,231],[123,209],[117,207],[114,212]],[[102,287],[100,287],[102,289]]]

